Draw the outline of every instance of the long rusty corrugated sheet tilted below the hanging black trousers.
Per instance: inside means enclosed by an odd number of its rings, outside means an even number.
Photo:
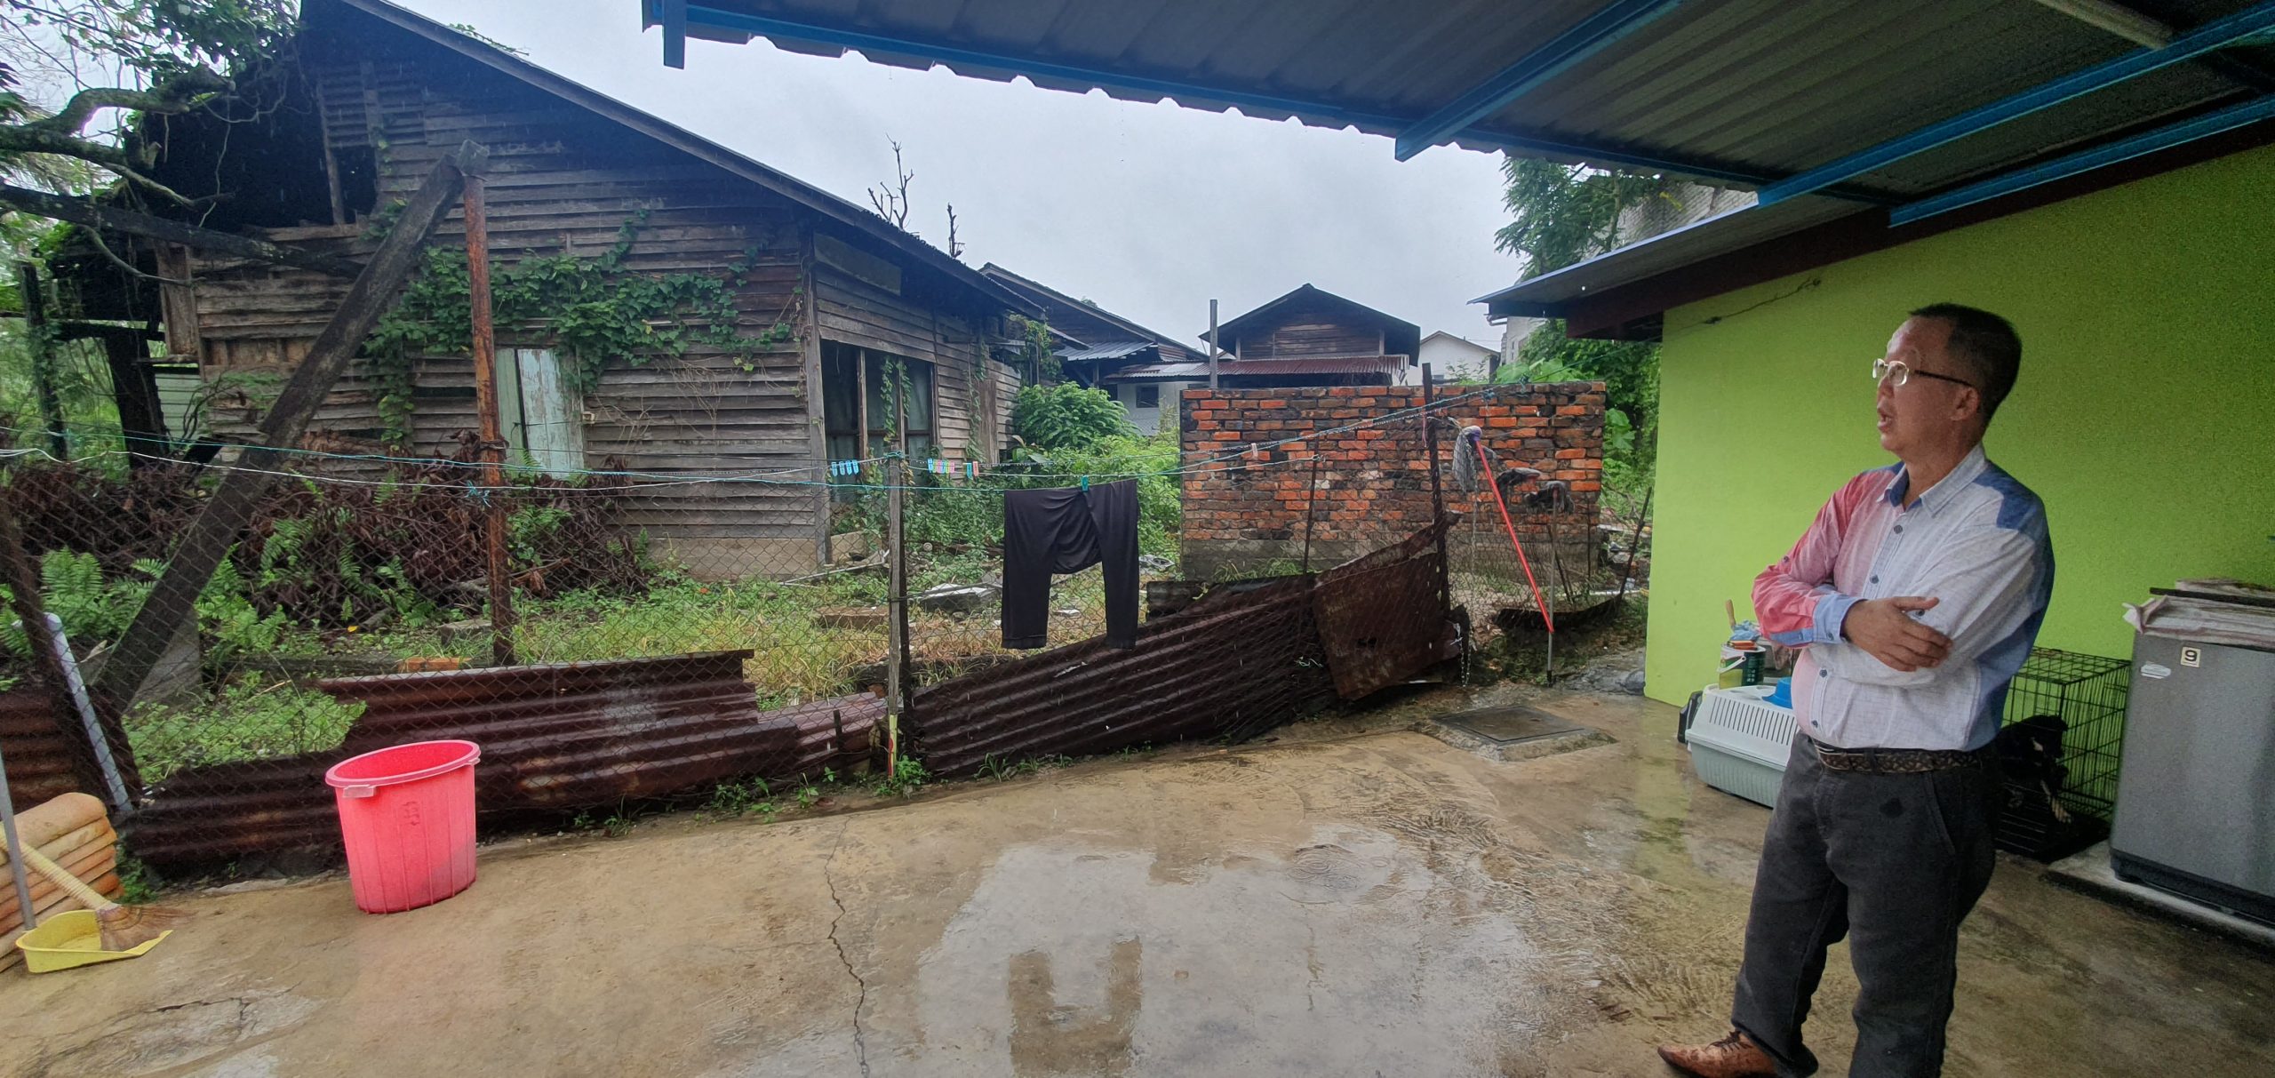
[[[930,685],[910,710],[917,748],[953,778],[990,757],[1251,737],[1333,698],[1310,607],[1310,578],[1288,578],[1147,621],[1128,650],[1092,637]]]

